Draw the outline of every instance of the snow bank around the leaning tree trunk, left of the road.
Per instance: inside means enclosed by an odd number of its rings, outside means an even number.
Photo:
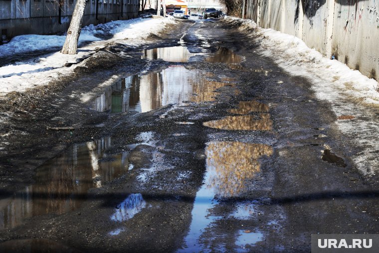
[[[20,35],[7,44],[0,45],[0,57],[27,54],[33,51],[56,50],[23,62],[0,67],[0,95],[8,92],[23,92],[27,88],[45,85],[53,79],[70,74],[75,65],[64,67],[67,62],[75,63],[79,58],[90,55],[95,48],[103,47],[111,41],[138,46],[150,33],[163,30],[166,25],[174,23],[171,18],[135,18],[111,21],[105,24],[89,25],[82,28],[79,41],[89,42],[78,48],[77,55],[59,52],[66,36],[62,35]],[[101,39],[96,35],[107,34],[110,39]]]

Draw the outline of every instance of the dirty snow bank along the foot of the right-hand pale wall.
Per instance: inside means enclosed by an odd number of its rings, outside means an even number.
[[[309,79],[317,98],[330,102],[337,117],[354,116],[353,120],[337,120],[336,124],[349,141],[359,147],[360,151],[351,157],[357,168],[365,175],[379,173],[379,139],[373,137],[379,132],[376,80],[340,61],[323,57],[295,36],[257,27],[252,20],[227,17],[226,21],[240,22],[239,28],[245,31],[255,28],[255,33],[249,34],[258,40],[257,51],[261,55],[273,59],[289,74]]]

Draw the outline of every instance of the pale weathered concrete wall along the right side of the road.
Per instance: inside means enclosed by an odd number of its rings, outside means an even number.
[[[247,0],[247,18],[379,80],[379,0]]]

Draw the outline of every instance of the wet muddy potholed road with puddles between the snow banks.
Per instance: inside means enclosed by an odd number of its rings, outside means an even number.
[[[178,22],[2,97],[0,251],[310,252],[311,234],[376,234],[359,148],[240,25]]]

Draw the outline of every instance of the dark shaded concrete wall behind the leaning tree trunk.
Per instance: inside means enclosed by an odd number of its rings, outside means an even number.
[[[76,0],[0,0],[0,35],[52,34],[67,31]],[[138,0],[88,0],[83,26],[138,15]],[[60,6],[60,7],[59,7]]]

